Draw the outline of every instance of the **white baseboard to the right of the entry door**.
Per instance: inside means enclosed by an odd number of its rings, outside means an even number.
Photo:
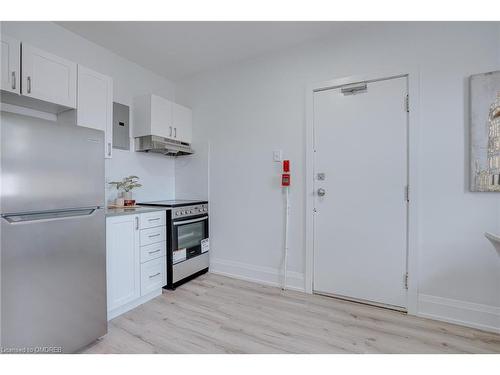
[[[418,316],[500,333],[500,307],[420,294]]]

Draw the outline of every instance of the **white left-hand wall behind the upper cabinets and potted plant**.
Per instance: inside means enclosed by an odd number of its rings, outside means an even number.
[[[2,22],[2,33],[32,44],[58,56],[82,64],[113,78],[113,100],[130,106],[130,125],[133,124],[132,99],[154,93],[167,99],[174,97],[174,84],[141,66],[126,60],[51,22]],[[131,145],[133,150],[133,144]],[[175,161],[161,155],[139,154],[113,150],[106,159],[106,181],[136,174],[143,187],[137,190],[137,200],[170,199],[175,196]],[[115,190],[107,189],[108,199]]]

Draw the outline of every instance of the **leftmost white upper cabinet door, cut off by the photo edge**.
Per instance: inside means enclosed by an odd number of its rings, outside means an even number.
[[[21,42],[2,35],[0,55],[2,56],[2,81],[0,88],[5,91],[21,93]]]

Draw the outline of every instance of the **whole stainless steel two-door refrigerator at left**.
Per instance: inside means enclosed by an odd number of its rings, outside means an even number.
[[[0,346],[75,352],[107,332],[104,135],[0,121]]]

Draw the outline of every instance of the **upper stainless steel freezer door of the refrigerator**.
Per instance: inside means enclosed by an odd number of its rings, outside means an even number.
[[[104,205],[104,133],[1,112],[1,213]]]

